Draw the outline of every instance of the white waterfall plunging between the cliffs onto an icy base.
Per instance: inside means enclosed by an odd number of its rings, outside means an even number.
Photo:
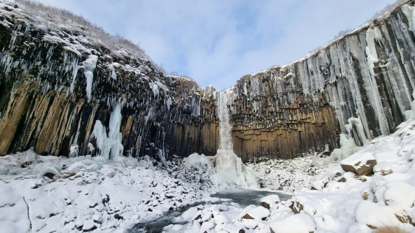
[[[255,177],[233,150],[232,123],[228,109],[228,96],[231,93],[230,90],[221,91],[217,100],[220,143],[216,154],[216,173],[219,186],[224,189],[234,186],[256,187]]]

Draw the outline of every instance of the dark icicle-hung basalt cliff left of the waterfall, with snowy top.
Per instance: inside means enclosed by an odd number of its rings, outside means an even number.
[[[0,0],[0,155],[67,155],[72,144],[80,154],[161,160],[200,151],[207,124],[195,82],[164,77],[70,14],[28,7]]]

